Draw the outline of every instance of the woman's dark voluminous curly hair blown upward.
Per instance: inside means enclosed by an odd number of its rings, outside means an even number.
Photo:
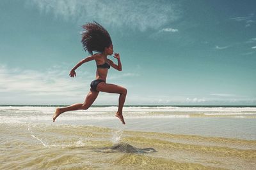
[[[81,32],[84,51],[103,53],[105,47],[112,44],[108,31],[99,23],[93,21],[82,26],[84,31]]]

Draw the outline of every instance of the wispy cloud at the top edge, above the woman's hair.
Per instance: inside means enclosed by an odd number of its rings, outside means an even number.
[[[36,6],[41,13],[53,13],[55,17],[79,24],[96,20],[102,25],[129,27],[145,31],[159,29],[179,18],[180,11],[172,2],[162,1],[104,1],[104,0],[27,0],[28,6]]]

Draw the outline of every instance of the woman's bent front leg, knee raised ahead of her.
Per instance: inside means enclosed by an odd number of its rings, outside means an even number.
[[[123,117],[123,106],[124,106],[125,97],[127,94],[127,89],[119,85],[113,85],[113,84],[102,82],[102,83],[99,83],[99,85],[97,86],[97,90],[99,90],[100,92],[120,94],[119,102],[118,102],[118,111],[116,112],[116,117],[120,118],[122,123],[125,124],[124,117]]]

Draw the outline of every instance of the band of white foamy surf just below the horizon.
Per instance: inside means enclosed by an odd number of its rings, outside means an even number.
[[[40,106],[0,106],[0,123],[52,122],[52,114],[56,108]],[[88,110],[69,111],[58,117],[62,120],[113,120],[116,119],[116,106],[92,107]],[[256,107],[173,107],[173,106],[129,106],[124,107],[125,119],[139,118],[190,118],[221,116],[246,118],[256,115]],[[203,113],[203,114],[202,114]]]

